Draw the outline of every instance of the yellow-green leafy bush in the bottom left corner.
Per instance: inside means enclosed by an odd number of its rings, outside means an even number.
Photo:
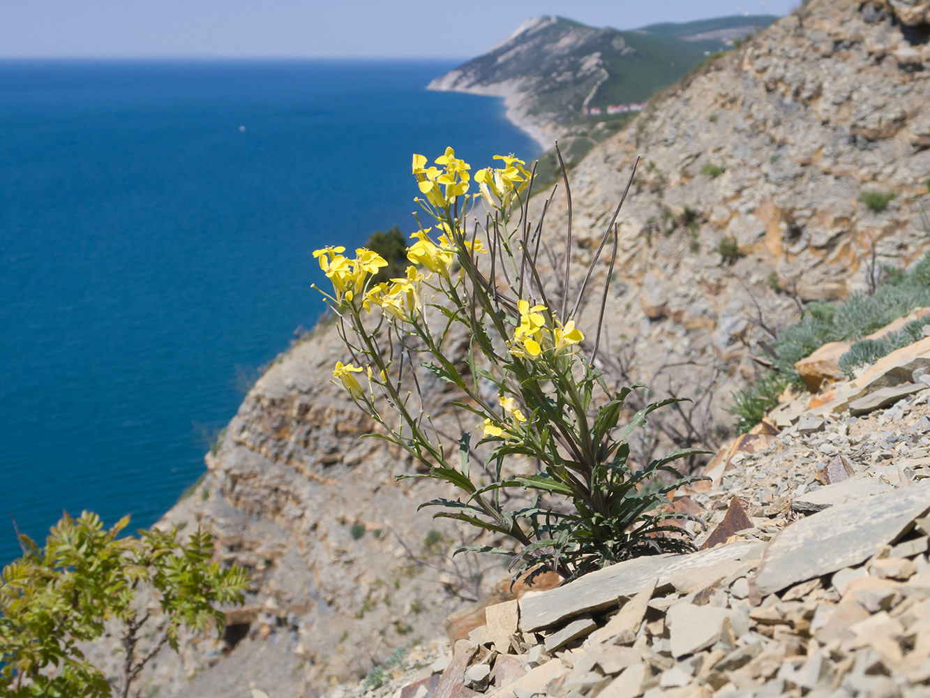
[[[221,630],[220,604],[242,603],[246,572],[213,562],[210,535],[187,542],[178,530],[142,530],[118,538],[129,517],[105,530],[96,514],[67,514],[39,547],[20,535],[23,556],[0,578],[0,696],[126,698],[132,682],[167,644],[178,651],[187,627]],[[140,608],[143,586],[157,610]],[[106,621],[121,624],[121,671],[111,686],[81,643],[100,639]]]

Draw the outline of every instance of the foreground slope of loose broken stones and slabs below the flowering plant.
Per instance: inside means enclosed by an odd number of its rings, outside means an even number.
[[[697,553],[488,606],[451,657],[330,697],[927,695],[928,369],[924,339],[831,386],[857,400],[797,396],[722,449],[674,495],[711,523]]]

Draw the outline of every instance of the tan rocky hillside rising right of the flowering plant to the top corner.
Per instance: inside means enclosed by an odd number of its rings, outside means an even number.
[[[867,289],[870,268],[923,254],[925,39],[926,25],[888,7],[811,0],[659,95],[572,170],[583,263],[642,155],[618,218],[608,346],[632,378],[712,392],[694,415],[704,431],[726,422],[722,401],[757,376],[759,342],[798,319],[798,302]],[[859,199],[870,191],[895,198],[873,211]],[[557,246],[564,198],[546,223]],[[581,326],[595,319],[591,308]]]

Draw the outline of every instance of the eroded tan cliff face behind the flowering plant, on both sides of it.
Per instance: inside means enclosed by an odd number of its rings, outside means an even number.
[[[711,391],[695,419],[726,421],[729,390],[754,377],[765,328],[797,317],[791,294],[843,297],[866,287],[872,248],[895,266],[925,248],[930,5],[887,2],[812,0],[652,101],[570,173],[571,254],[583,264],[643,154],[618,218],[606,356],[659,392]],[[883,212],[858,200],[873,189],[896,195]],[[546,229],[561,255],[558,197]],[[713,251],[724,238],[740,255],[732,263]],[[595,288],[606,274],[601,262]],[[578,318],[586,332],[593,305]],[[451,529],[416,512],[448,492],[394,481],[414,464],[360,438],[372,423],[329,383],[337,360],[339,339],[322,328],[273,365],[207,457],[202,490],[169,514],[212,530],[221,556],[254,570],[255,583],[226,642],[189,643],[182,662],[165,658],[146,679],[166,686],[161,695],[315,694],[432,638],[471,593],[471,571],[457,577],[443,555]],[[426,409],[458,436],[444,386],[423,380]]]

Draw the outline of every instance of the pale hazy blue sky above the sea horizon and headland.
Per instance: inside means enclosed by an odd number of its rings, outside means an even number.
[[[2,0],[3,57],[471,58],[523,20],[632,29],[787,14],[798,0]]]

